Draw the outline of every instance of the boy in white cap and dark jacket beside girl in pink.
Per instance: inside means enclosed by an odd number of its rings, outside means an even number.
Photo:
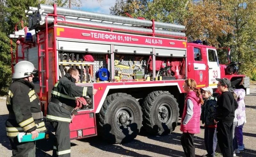
[[[202,123],[204,128],[204,144],[207,151],[202,157],[214,157],[217,145],[217,125],[214,123],[217,99],[212,96],[213,91],[209,87],[201,88],[203,90],[204,105],[202,106]]]

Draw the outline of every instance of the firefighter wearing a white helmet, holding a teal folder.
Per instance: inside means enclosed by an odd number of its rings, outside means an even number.
[[[36,141],[19,143],[17,135],[20,132],[32,134],[32,139],[35,139],[39,132],[46,132],[41,105],[32,83],[35,70],[29,61],[18,62],[14,67],[12,84],[7,93],[9,118],[5,124],[13,156],[36,156]]]

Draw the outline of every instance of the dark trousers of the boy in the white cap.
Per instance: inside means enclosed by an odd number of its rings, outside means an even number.
[[[215,149],[217,145],[216,128],[205,127],[204,128],[204,144],[209,157],[215,155]]]

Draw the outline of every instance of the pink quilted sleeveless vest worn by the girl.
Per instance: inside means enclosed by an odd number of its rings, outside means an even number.
[[[189,91],[186,96],[184,110],[181,117],[181,122],[183,122],[184,118],[187,114],[187,100],[190,99],[193,104],[193,116],[188,121],[186,125],[181,124],[180,125],[180,131],[182,132],[188,132],[191,134],[200,133],[200,115],[201,115],[201,103],[200,99],[196,96],[196,93],[194,91]]]

